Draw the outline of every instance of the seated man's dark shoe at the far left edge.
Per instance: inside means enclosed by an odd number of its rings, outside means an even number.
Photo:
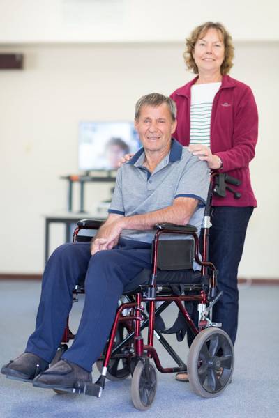
[[[8,378],[31,382],[39,373],[45,371],[48,363],[33,353],[23,353],[2,367],[1,373]]]

